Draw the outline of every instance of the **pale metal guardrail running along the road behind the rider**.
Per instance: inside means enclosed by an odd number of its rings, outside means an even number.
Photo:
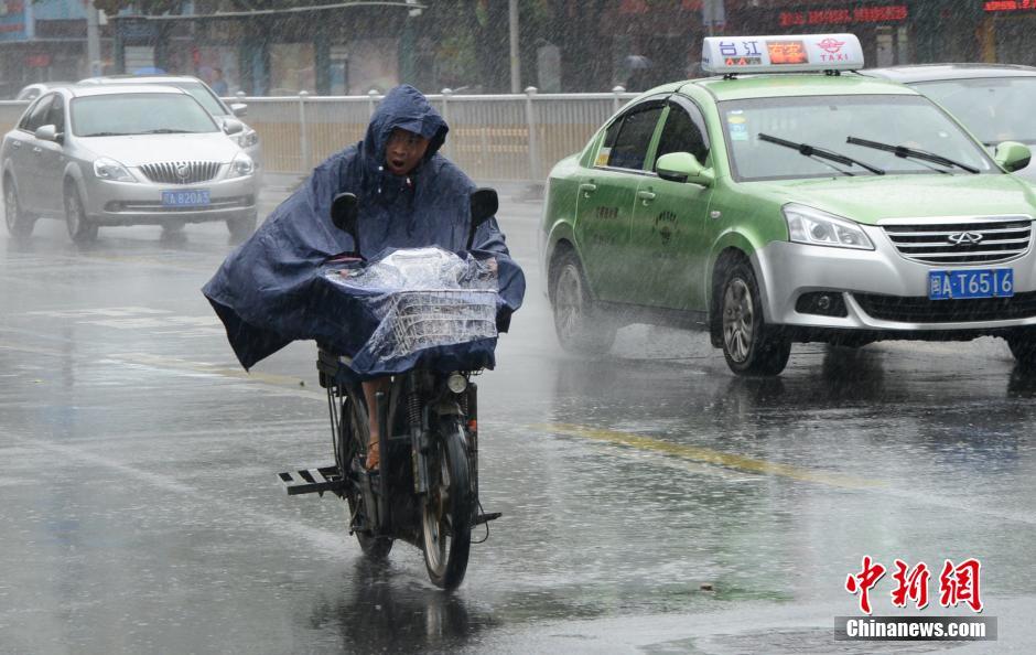
[[[443,153],[486,181],[541,181],[560,159],[578,152],[609,116],[637,94],[615,87],[602,94],[428,96],[450,125]],[[247,97],[245,121],[259,132],[263,169],[307,174],[313,167],[364,138],[382,96]],[[0,129],[17,122],[28,103],[0,101]]]

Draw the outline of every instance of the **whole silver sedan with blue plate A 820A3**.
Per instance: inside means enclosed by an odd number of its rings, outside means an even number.
[[[13,236],[61,218],[75,241],[106,225],[225,221],[256,226],[256,167],[190,94],[160,86],[87,86],[37,98],[0,146],[3,210]]]

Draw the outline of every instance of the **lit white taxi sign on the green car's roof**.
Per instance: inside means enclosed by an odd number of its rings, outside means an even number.
[[[721,75],[857,71],[863,68],[863,49],[855,34],[709,36],[701,67]]]

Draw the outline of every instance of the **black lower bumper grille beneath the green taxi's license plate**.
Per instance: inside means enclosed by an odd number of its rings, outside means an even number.
[[[968,300],[929,300],[924,296],[904,298],[879,293],[853,293],[853,299],[872,318],[902,323],[968,323],[1036,316],[1036,291],[1016,293],[1011,298]]]

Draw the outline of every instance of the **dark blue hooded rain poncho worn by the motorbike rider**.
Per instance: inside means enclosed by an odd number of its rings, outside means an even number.
[[[384,170],[396,128],[429,139],[424,160],[407,178]],[[411,86],[389,92],[375,110],[364,140],[332,155],[270,214],[258,230],[223,262],[203,292],[227,330],[245,368],[296,340],[349,357],[358,378],[400,373],[419,361],[436,367],[492,368],[496,336],[434,346],[395,358],[364,355],[378,331],[385,294],[392,289],[357,289],[336,275],[354,265],[335,261],[354,250],[352,238],[331,222],[338,193],[359,201],[361,255],[377,261],[393,250],[438,246],[464,261],[495,258],[498,298],[496,329],[507,330],[521,305],[525,276],[510,258],[496,218],[484,223],[465,253],[475,184],[439,149],[449,127]],[[379,300],[380,299],[380,300]]]

